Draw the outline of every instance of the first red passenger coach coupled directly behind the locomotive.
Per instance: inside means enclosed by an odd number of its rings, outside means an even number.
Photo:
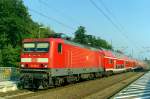
[[[108,73],[118,73],[126,71],[129,67],[128,58],[122,54],[103,50],[104,53],[104,67]]]

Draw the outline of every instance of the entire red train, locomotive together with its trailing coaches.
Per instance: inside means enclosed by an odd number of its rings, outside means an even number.
[[[137,60],[123,54],[54,37],[24,39],[20,58],[20,85],[34,89],[62,86],[141,67]]]

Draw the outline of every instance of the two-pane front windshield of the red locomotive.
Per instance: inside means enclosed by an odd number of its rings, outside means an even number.
[[[48,42],[30,42],[23,44],[24,52],[48,52]]]

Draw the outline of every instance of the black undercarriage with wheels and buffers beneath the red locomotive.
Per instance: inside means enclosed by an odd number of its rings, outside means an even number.
[[[22,69],[20,77],[20,88],[47,89],[51,86],[62,86],[81,80],[102,77],[103,73],[72,74],[66,76],[51,76],[49,70]]]

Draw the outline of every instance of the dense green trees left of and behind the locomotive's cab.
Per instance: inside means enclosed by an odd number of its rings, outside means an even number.
[[[0,66],[17,66],[24,38],[48,37],[54,33],[31,19],[22,0],[0,0]]]

